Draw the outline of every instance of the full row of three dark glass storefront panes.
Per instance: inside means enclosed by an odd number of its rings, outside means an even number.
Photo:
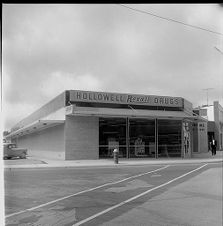
[[[156,127],[155,119],[99,119],[100,158],[112,158],[114,149],[123,158],[181,157],[181,139],[181,120],[158,119]]]

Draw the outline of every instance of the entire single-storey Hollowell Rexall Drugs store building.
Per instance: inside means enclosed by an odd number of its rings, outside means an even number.
[[[190,158],[207,152],[207,122],[182,97],[66,90],[12,129],[29,155],[79,160]]]

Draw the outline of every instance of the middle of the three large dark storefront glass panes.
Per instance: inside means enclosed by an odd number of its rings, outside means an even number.
[[[155,120],[129,119],[129,157],[155,157]]]

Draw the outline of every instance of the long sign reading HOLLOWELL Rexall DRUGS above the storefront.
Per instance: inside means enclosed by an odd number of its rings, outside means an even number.
[[[89,92],[78,90],[70,90],[70,101],[166,107],[183,106],[183,101],[180,97]]]

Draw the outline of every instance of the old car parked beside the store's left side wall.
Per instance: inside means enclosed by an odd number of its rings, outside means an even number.
[[[11,159],[15,157],[26,159],[27,149],[18,148],[14,143],[4,143],[3,145],[4,145],[3,159]]]

